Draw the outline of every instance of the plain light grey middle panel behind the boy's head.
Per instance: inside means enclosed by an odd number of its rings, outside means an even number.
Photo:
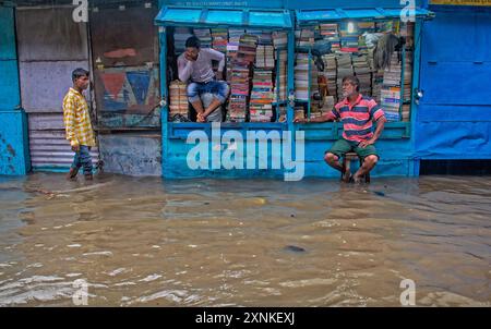
[[[72,71],[86,61],[21,62],[22,107],[27,112],[62,112],[63,97],[73,85]],[[89,93],[85,93],[89,99]]]

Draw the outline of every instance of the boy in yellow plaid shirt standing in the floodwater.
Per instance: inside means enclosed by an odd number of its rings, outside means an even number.
[[[88,87],[88,71],[76,69],[72,72],[73,87],[63,98],[63,121],[67,139],[75,153],[68,179],[74,179],[83,166],[86,180],[93,179],[91,147],[95,146],[94,131],[88,112],[88,103],[82,92]]]

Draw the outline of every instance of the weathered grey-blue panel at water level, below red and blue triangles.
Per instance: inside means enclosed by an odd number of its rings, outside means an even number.
[[[106,172],[161,175],[159,133],[101,134],[100,157]]]

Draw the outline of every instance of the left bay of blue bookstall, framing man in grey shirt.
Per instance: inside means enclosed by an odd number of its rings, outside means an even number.
[[[168,76],[167,70],[167,32],[169,28],[176,26],[184,27],[240,27],[240,28],[261,28],[266,31],[283,31],[287,33],[289,39],[288,46],[288,93],[292,94],[292,16],[288,10],[282,9],[250,9],[250,8],[185,8],[185,7],[164,7],[158,16],[156,24],[160,26],[160,68],[161,68],[161,95],[164,99],[168,99]],[[267,175],[276,176],[285,172],[283,166],[274,166],[274,160],[282,157],[282,151],[278,151],[275,146],[280,143],[279,139],[285,131],[292,131],[292,110],[291,105],[285,101],[284,105],[288,107],[287,122],[271,122],[271,123],[221,123],[220,131],[217,131],[211,123],[182,123],[168,122],[168,105],[163,111],[161,126],[163,126],[163,175],[166,178],[184,178],[184,176],[258,176]],[[206,160],[203,166],[196,169],[191,169],[187,157],[190,150],[194,147],[193,143],[187,143],[189,134],[201,136],[201,138],[208,141],[205,151]],[[227,150],[230,151],[231,143],[227,148],[223,148],[221,138],[233,136],[231,141],[246,139],[249,133],[265,134],[268,136],[268,143],[263,145],[255,145],[254,150],[248,148],[246,158],[253,158],[253,164],[249,162],[239,163],[235,169],[227,170],[221,166],[216,167],[216,160],[221,159],[221,156]],[[218,141],[218,142],[216,142]],[[194,141],[193,141],[194,142]],[[291,146],[291,144],[289,144]],[[267,151],[267,159],[264,157],[264,151]],[[208,157],[209,156],[209,157]],[[259,161],[259,162],[258,162]],[[219,161],[218,161],[219,162]],[[267,162],[267,163],[265,163]],[[263,167],[264,166],[264,167]],[[191,166],[192,167],[192,166]],[[248,170],[241,168],[249,168]],[[264,169],[262,169],[264,168]]]

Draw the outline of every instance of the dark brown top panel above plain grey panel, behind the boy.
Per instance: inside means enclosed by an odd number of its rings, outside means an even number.
[[[16,25],[20,61],[88,59],[86,23],[73,22],[70,8],[22,9]]]

